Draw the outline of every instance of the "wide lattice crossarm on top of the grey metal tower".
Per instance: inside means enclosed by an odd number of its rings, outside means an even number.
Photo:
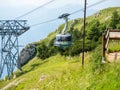
[[[27,20],[0,20],[0,35],[20,36],[29,28]]]

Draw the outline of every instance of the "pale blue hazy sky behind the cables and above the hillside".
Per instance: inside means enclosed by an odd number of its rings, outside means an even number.
[[[29,12],[46,2],[51,0],[0,0],[0,20],[14,20],[26,12]],[[101,0],[87,0],[87,6],[92,5]],[[103,0],[104,2],[87,9],[87,16],[107,7],[120,7],[120,0]],[[44,22],[57,18],[63,13],[71,13],[84,7],[84,0],[54,0],[49,5],[46,5],[33,13],[30,13],[20,20],[28,20],[28,25]],[[83,11],[71,15],[69,19],[83,18]],[[19,37],[19,44],[25,46],[28,43],[40,41],[47,37],[50,32],[55,31],[63,20],[57,20],[50,23],[31,27]],[[20,48],[21,50],[22,48]]]

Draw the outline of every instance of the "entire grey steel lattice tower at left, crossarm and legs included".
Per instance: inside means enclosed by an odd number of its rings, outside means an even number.
[[[5,66],[7,67],[8,79],[13,74],[15,66],[22,71],[19,61],[18,36],[30,28],[26,23],[26,20],[0,20],[0,77]]]

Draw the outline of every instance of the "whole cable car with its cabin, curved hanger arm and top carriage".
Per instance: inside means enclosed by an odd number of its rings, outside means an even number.
[[[54,46],[57,47],[69,47],[72,45],[72,35],[70,33],[65,33],[68,28],[68,16],[70,14],[62,14],[59,18],[63,18],[65,20],[65,27],[61,34],[56,35],[56,40],[54,42]]]

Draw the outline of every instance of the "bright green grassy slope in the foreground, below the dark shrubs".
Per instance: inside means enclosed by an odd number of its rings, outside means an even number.
[[[81,56],[34,58],[23,67],[23,74],[16,72],[16,79],[1,81],[0,87],[14,82],[7,90],[119,90],[120,62],[100,63],[100,49],[85,54],[84,68]]]

